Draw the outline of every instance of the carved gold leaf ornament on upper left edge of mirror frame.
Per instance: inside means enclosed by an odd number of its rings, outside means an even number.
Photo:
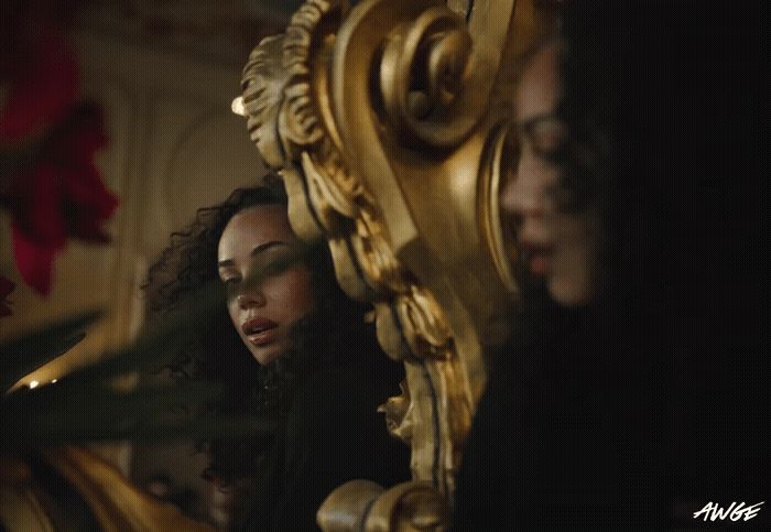
[[[314,98],[323,93],[313,90],[325,82],[313,63],[329,53],[346,10],[345,1],[308,1],[284,35],[254,48],[243,69],[241,104],[251,139],[270,166],[282,169],[290,219],[305,239],[340,234],[341,217],[356,216],[354,198],[362,194],[335,146],[333,122],[322,119],[328,106]]]

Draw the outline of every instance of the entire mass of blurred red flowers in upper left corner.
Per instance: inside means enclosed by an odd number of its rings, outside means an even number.
[[[117,198],[94,165],[101,112],[75,106],[77,65],[65,37],[74,2],[0,2],[0,207],[13,217],[22,279],[51,290],[68,237],[106,242]]]

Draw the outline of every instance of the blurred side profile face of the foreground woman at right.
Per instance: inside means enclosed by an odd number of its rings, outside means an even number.
[[[563,170],[553,155],[564,149],[567,130],[554,115],[558,62],[560,45],[547,45],[522,75],[517,93],[521,153],[501,206],[519,217],[518,240],[531,273],[545,280],[556,302],[573,306],[588,303],[595,294],[599,219],[590,209],[560,208]]]

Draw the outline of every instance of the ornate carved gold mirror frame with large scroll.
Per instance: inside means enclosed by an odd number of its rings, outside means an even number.
[[[325,530],[446,526],[485,357],[518,295],[498,194],[514,80],[545,19],[533,0],[308,0],[243,70],[234,110],[284,177],[295,231],[328,240],[340,285],[373,303],[406,368],[383,411],[414,480],[344,486]]]

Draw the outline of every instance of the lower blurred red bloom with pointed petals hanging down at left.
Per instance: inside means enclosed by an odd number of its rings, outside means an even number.
[[[17,167],[10,186],[1,191],[0,204],[13,217],[17,267],[24,282],[42,294],[51,290],[53,260],[68,237],[109,241],[101,225],[118,199],[94,164],[96,151],[106,143],[100,109],[74,108],[32,150],[32,164]]]

